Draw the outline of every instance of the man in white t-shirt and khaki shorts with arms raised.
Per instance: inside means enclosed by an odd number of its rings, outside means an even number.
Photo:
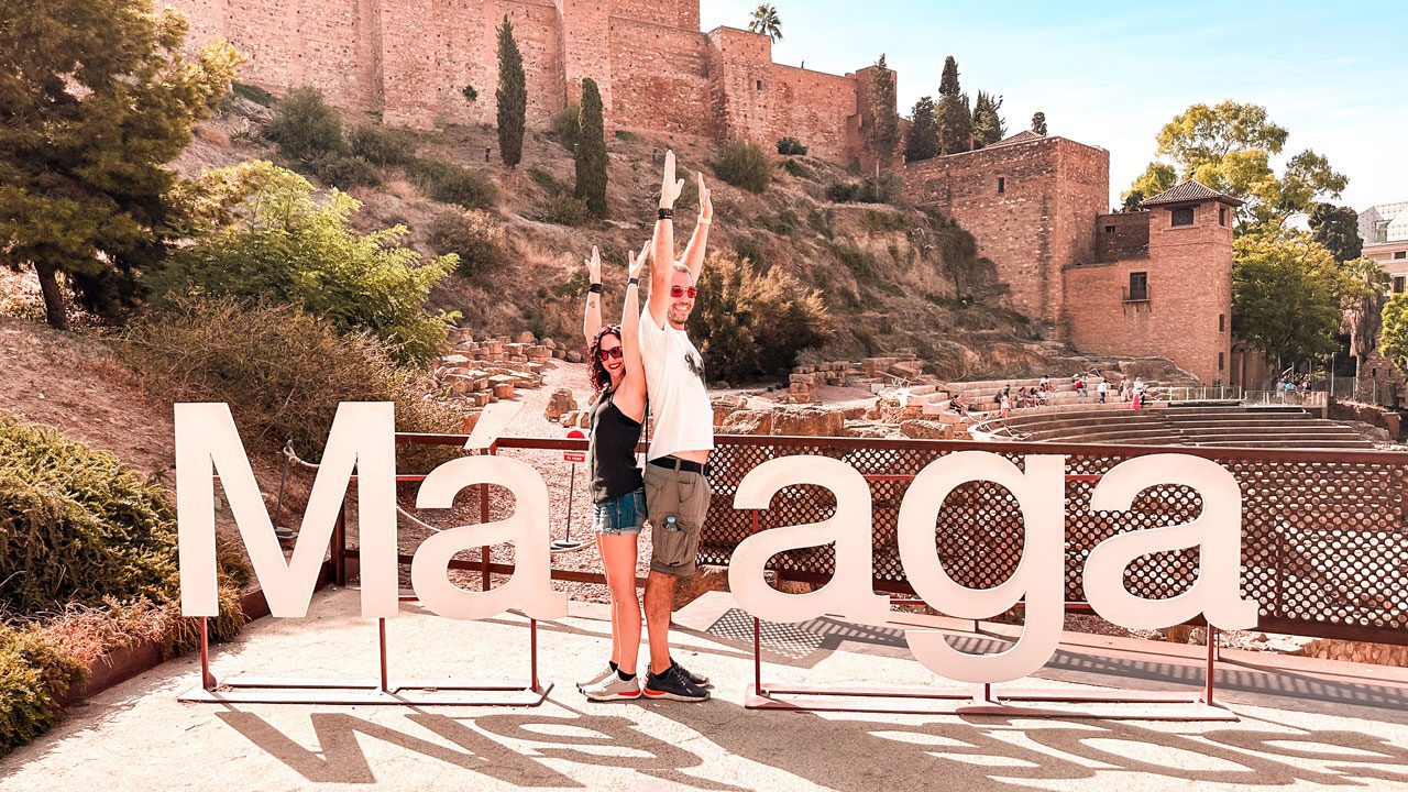
[[[641,359],[655,427],[645,465],[645,509],[650,524],[650,574],[645,585],[645,624],[650,636],[648,698],[700,702],[708,679],[670,658],[674,582],[693,576],[700,530],[708,513],[708,454],[714,448],[714,409],[704,385],[704,358],[684,331],[694,310],[714,204],[698,176],[700,218],[684,258],[674,261],[674,152],[665,154],[665,179],[650,264],[650,299],[641,313]]]

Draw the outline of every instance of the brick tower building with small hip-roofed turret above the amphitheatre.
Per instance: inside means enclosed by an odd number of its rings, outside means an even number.
[[[1207,383],[1232,361],[1232,224],[1240,200],[1188,180],[1105,214],[1110,152],[1024,131],[911,162],[905,197],[973,234],[1007,302],[1101,355],[1157,355]]]

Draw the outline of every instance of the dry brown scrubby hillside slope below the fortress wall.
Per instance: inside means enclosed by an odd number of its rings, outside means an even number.
[[[594,220],[572,197],[569,121],[529,130],[522,163],[508,169],[489,125],[414,132],[334,114],[339,130],[329,132],[327,111],[310,110],[303,93],[293,94],[293,106],[259,99],[227,100],[175,165],[196,176],[266,158],[315,185],[344,187],[362,204],[351,214],[359,231],[406,225],[404,244],[425,261],[458,254],[456,272],[431,292],[429,304],[458,311],[458,324],[476,335],[531,330],[572,338],[591,245],[607,262],[607,316],[620,310],[620,278],[611,273],[624,273],[627,251],[650,233],[659,166],[673,148],[681,172],[703,172],[714,190],[711,251],[746,259],[753,276],[796,282],[801,296],[818,292],[826,333],[804,359],[910,348],[935,373],[962,376],[994,373],[1035,354],[1035,331],[1000,307],[1005,287],[976,255],[972,237],[941,216],[903,206],[888,176],[877,182],[808,156],[756,148],[749,155],[738,144],[618,130],[608,135],[608,213]],[[289,113],[313,117],[290,131]],[[676,207],[680,248],[694,227],[696,193],[690,179]],[[994,348],[1005,349],[988,355]]]

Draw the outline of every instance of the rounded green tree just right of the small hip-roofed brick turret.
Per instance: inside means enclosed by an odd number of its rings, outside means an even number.
[[[1242,234],[1233,241],[1232,333],[1281,365],[1314,361],[1338,348],[1352,287],[1335,256],[1305,234]]]

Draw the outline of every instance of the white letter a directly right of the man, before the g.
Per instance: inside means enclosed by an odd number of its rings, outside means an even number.
[[[860,624],[884,624],[890,599],[874,593],[870,545],[870,485],[831,457],[794,455],[758,465],[738,485],[734,509],[767,509],[777,490],[815,485],[836,496],[829,520],[769,528],[738,543],[728,561],[728,589],[743,610],[769,621],[805,621],[838,613]],[[836,544],[831,582],[804,595],[783,593],[763,579],[767,559],[784,550]]]

